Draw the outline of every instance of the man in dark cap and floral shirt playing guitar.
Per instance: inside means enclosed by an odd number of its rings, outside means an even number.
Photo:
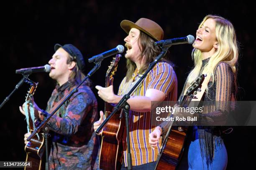
[[[82,73],[85,66],[83,56],[74,45],[56,44],[54,50],[49,60],[49,76],[56,80],[57,85],[47,103],[47,112],[85,77]],[[35,117],[46,119],[41,115],[41,109],[36,104],[34,106],[38,110],[35,111]],[[23,108],[20,107],[20,111],[24,114]],[[99,141],[92,127],[96,117],[97,100],[90,89],[90,80],[87,80],[48,122],[52,137],[50,169],[98,168],[96,158]],[[25,144],[29,135],[25,134]]]

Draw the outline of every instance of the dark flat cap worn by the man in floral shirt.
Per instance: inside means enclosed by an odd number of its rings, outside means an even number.
[[[84,57],[77,47],[75,47],[72,44],[65,44],[63,46],[60,44],[55,44],[54,50],[57,51],[59,47],[62,47],[65,51],[67,51],[67,53],[69,53],[69,55],[74,57],[74,59],[77,61],[79,70],[84,70],[84,67],[85,67]]]

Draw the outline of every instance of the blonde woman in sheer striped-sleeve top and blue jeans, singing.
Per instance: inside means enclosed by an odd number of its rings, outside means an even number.
[[[238,45],[236,33],[230,21],[216,15],[207,15],[196,32],[192,57],[195,67],[189,73],[184,89],[202,73],[207,74],[208,86],[205,103],[206,116],[219,116],[230,111],[230,102],[236,96],[236,64]],[[182,94],[184,93],[184,90]],[[157,126],[149,135],[149,143],[154,148],[162,134],[169,128],[169,122]],[[217,126],[194,126],[189,134],[188,169],[224,170],[228,155]]]

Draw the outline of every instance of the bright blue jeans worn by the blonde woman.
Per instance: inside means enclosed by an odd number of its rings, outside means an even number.
[[[212,165],[209,165],[208,170],[225,170],[228,163],[228,154],[225,145],[216,146],[214,150],[214,158]],[[189,170],[207,170],[206,159],[201,156],[199,139],[191,142],[188,150],[188,165]]]

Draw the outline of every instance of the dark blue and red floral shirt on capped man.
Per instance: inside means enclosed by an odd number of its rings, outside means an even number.
[[[46,111],[49,112],[73,87],[69,82],[61,87],[57,85]],[[90,87],[81,85],[47,123],[52,138],[50,169],[97,169],[99,141],[93,130],[96,119],[96,97]]]

